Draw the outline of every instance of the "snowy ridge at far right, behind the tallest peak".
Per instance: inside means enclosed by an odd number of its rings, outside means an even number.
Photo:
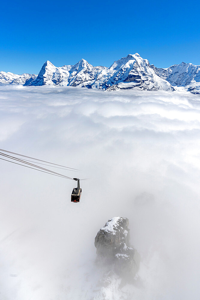
[[[172,85],[184,86],[188,91],[200,93],[200,65],[182,62],[166,69],[156,68],[154,65],[151,65],[151,68]]]

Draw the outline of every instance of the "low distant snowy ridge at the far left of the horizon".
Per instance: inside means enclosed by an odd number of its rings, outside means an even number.
[[[36,78],[37,75],[35,74],[21,74],[21,75],[17,75],[17,74],[13,74],[13,73],[6,73],[4,71],[0,72],[0,83],[2,84],[10,84],[10,83],[20,83],[20,84],[24,84],[26,82],[26,80],[32,78]]]

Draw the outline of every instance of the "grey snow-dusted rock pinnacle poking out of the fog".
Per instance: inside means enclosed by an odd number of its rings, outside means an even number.
[[[94,245],[101,264],[109,265],[119,276],[132,280],[139,270],[140,256],[130,246],[128,225],[125,217],[109,219],[97,233]]]

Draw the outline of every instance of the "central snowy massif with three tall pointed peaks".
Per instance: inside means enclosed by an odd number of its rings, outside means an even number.
[[[55,67],[46,61],[37,78],[25,85],[71,85],[99,89],[138,88],[145,90],[173,90],[158,76],[147,59],[138,53],[115,61],[109,68],[94,67],[85,59],[74,66]]]

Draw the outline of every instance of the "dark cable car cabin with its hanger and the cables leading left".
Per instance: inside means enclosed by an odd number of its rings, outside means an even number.
[[[71,178],[71,177],[65,176],[63,174],[54,172],[52,170],[48,170],[46,168],[37,166],[35,164],[42,164],[42,165],[49,166],[47,164],[43,164],[43,163],[48,163],[48,164],[51,164],[50,167],[54,167],[54,168],[63,169],[63,168],[60,168],[60,167],[64,167],[64,170],[75,171],[75,172],[80,171],[80,170],[70,168],[70,167],[66,167],[66,166],[62,166],[62,165],[59,165],[59,164],[50,163],[49,161],[43,161],[41,159],[32,158],[32,157],[29,157],[29,156],[26,156],[26,155],[22,155],[22,154],[15,153],[15,152],[10,152],[10,151],[3,150],[3,149],[0,149],[0,151],[2,151],[2,152],[0,152],[0,156],[4,157],[4,158],[0,158],[0,159],[3,160],[3,161],[9,161],[10,163],[17,164],[17,165],[20,165],[20,166],[23,166],[23,167],[27,167],[27,168],[30,168],[30,169],[33,169],[33,170],[37,170],[37,171],[40,171],[40,172],[43,172],[43,173],[47,173],[47,174],[62,177],[62,178],[65,178],[65,179],[70,179],[70,180],[77,181],[77,188],[74,187],[73,191],[72,191],[72,194],[71,194],[71,202],[74,202],[74,203],[80,202],[80,198],[81,198],[81,194],[82,194],[82,189],[80,188],[80,180],[87,180],[88,178],[85,178],[85,179]],[[21,159],[21,158],[18,158],[16,156],[11,156],[11,155],[3,153],[3,152],[14,154],[14,155],[25,157],[25,158],[30,158],[30,159],[33,159],[34,161],[30,161],[30,160],[27,160],[27,159]],[[5,159],[5,158],[10,159],[11,161],[8,160],[8,159]],[[40,161],[42,163],[40,163],[38,161]],[[31,162],[35,163],[35,164],[32,164]],[[21,164],[19,164],[19,163],[21,163]]]

